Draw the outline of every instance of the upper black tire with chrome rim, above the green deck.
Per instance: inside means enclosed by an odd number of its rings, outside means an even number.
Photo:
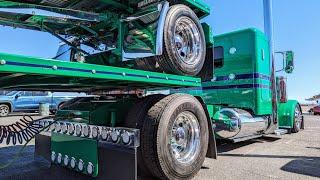
[[[137,66],[144,70],[195,76],[206,56],[205,35],[197,15],[185,5],[170,7],[164,27],[164,52],[144,58]]]

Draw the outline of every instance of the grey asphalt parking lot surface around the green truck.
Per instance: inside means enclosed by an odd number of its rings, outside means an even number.
[[[1,118],[0,123],[10,124],[19,117]],[[236,144],[220,143],[218,160],[206,159],[195,179],[319,179],[320,116],[306,115],[305,121],[305,130],[298,134],[287,134],[281,138],[265,137]],[[2,145],[0,164],[10,162],[20,148]],[[50,173],[49,164],[35,160],[33,151],[31,143],[10,167],[0,168],[0,179],[79,178],[74,174],[66,173],[62,177]]]

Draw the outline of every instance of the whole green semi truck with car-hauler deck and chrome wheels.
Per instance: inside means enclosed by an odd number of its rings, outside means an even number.
[[[0,87],[93,94],[30,121],[29,133],[1,126],[1,142],[35,136],[35,154],[57,173],[190,179],[217,158],[216,139],[299,132],[301,107],[275,74],[272,28],[213,36],[199,20],[209,13],[201,0],[0,1],[0,24],[70,47],[56,59],[0,53]],[[293,52],[282,54],[292,73]]]

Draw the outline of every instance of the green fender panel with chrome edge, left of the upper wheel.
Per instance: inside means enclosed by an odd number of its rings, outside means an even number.
[[[130,17],[127,17],[122,20],[120,23],[120,31],[122,32],[122,37],[119,38],[119,44],[121,44],[122,49],[122,61],[129,61],[134,60],[137,58],[146,58],[146,57],[152,57],[156,55],[162,55],[163,54],[163,44],[164,44],[164,26],[166,17],[169,11],[169,3],[167,1],[162,2],[161,4],[156,4],[153,6],[148,7],[148,9],[143,9],[139,12],[137,12],[134,15],[131,15]],[[157,10],[155,10],[157,9]],[[155,29],[152,29],[152,24],[154,21],[150,21],[150,17],[153,17],[154,13],[158,13],[159,17],[156,19],[158,21],[157,27]],[[150,21],[150,22],[149,22]],[[130,29],[129,25],[130,24]],[[149,27],[149,28],[145,28]],[[133,37],[134,34],[130,34],[130,32],[144,32],[144,38],[145,40],[138,40],[135,41],[134,39],[131,39],[132,42],[126,42],[124,43],[124,40],[128,39],[128,37]],[[137,35],[135,35],[137,36]],[[141,37],[143,34],[141,35]],[[141,46],[140,50],[137,50],[137,44]],[[153,47],[150,47],[148,44],[152,44]],[[138,53],[137,53],[138,52]]]

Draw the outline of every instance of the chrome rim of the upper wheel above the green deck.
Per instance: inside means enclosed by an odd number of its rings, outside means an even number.
[[[201,60],[203,44],[197,25],[188,17],[176,21],[174,31],[175,51],[180,60],[188,65],[195,65]]]

